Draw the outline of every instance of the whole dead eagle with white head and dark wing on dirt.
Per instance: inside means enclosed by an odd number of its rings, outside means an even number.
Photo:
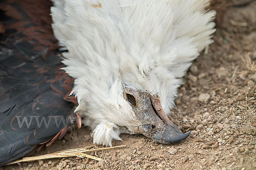
[[[8,0],[0,5],[0,166],[71,125],[111,146],[120,133],[186,139],[168,118],[209,45],[209,0]],[[49,14],[51,16],[49,16]],[[58,41],[57,41],[57,40]]]

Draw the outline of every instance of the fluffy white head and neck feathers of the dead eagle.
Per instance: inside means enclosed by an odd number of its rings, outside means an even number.
[[[94,142],[107,146],[120,139],[119,127],[137,133],[140,123],[124,87],[157,94],[168,113],[180,78],[215,31],[209,0],[53,2],[52,28],[68,50],[63,63],[75,78],[76,112],[94,130]]]

